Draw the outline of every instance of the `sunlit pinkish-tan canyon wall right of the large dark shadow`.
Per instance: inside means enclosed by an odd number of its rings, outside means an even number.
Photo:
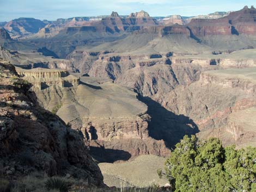
[[[254,73],[255,68],[206,71],[197,82],[177,87],[159,101],[193,119],[201,138],[219,137],[223,144],[238,147],[255,145]]]

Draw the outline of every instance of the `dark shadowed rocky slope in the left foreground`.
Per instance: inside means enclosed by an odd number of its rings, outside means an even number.
[[[49,176],[70,174],[103,185],[80,135],[56,115],[39,107],[29,85],[12,65],[0,63],[0,155],[3,176],[14,178],[44,171]]]

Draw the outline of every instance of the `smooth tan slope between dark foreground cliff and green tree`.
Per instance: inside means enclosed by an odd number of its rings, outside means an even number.
[[[156,171],[164,168],[163,157],[154,155],[139,156],[130,162],[100,163],[99,167],[104,176],[104,182],[115,187],[148,187],[152,183],[163,186],[168,183],[165,178],[160,179]]]

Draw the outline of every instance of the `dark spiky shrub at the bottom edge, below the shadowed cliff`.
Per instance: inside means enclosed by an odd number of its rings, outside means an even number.
[[[60,192],[68,192],[70,189],[70,183],[65,181],[63,178],[52,177],[47,179],[45,182],[45,187],[48,190],[57,189]]]

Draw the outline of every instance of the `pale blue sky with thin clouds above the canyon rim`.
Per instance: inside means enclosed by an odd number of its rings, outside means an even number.
[[[56,20],[76,16],[119,15],[145,10],[150,16],[206,15],[215,11],[235,11],[255,0],[0,0],[0,21],[19,17]]]

